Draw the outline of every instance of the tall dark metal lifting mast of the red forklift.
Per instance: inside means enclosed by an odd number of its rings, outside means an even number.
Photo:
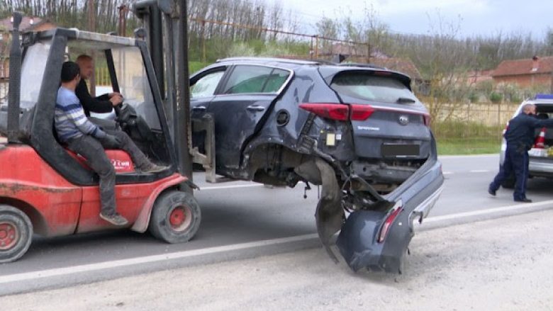
[[[146,30],[145,40],[164,101],[179,170],[192,181],[186,0],[140,0],[133,5],[133,13],[143,21]],[[182,190],[191,191],[184,187]]]

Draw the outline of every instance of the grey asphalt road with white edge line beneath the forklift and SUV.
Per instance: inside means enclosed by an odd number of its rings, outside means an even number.
[[[419,230],[445,227],[553,206],[547,180],[531,180],[528,197],[515,204],[512,192],[486,192],[498,169],[498,155],[442,157],[445,190]],[[245,259],[318,247],[313,214],[317,190],[265,188],[247,182],[206,184],[196,198],[202,223],[186,244],[164,244],[149,234],[126,230],[52,239],[36,238],[20,261],[0,265],[0,295],[91,283],[138,273],[231,259]],[[329,259],[330,260],[330,259]]]

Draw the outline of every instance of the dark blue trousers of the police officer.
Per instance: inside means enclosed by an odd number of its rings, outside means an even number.
[[[515,200],[521,200],[526,198],[526,181],[528,179],[528,152],[524,150],[520,152],[517,148],[512,148],[507,145],[505,150],[505,161],[499,168],[499,173],[496,178],[490,184],[490,188],[496,191],[501,183],[510,176],[515,174],[515,193],[513,198]]]

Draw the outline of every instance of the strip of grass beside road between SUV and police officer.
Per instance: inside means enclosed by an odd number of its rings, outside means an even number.
[[[437,138],[439,155],[491,154],[501,147],[499,137]]]

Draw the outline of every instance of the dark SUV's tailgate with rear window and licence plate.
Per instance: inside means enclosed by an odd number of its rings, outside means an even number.
[[[352,107],[357,156],[428,157],[431,139],[428,113],[408,88],[406,76],[387,71],[348,70],[336,74],[330,87],[342,103]]]

